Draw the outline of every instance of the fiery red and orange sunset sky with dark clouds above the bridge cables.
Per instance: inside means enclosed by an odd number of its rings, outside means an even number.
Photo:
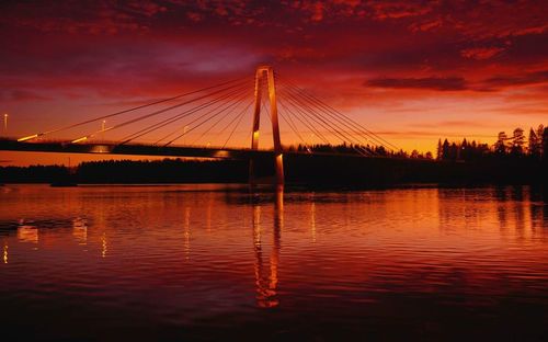
[[[264,64],[408,151],[548,124],[546,1],[4,0],[0,13],[2,136],[252,78]]]

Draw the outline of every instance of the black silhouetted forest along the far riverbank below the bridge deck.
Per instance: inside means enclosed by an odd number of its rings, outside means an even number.
[[[400,183],[546,184],[548,127],[499,133],[494,144],[438,139],[435,156],[416,150],[388,151],[381,146],[289,146],[284,162],[289,184],[376,186]],[[358,158],[370,156],[375,158]],[[256,162],[261,176],[273,173],[273,160]],[[107,160],[77,167],[1,167],[3,183],[246,183],[246,160]]]

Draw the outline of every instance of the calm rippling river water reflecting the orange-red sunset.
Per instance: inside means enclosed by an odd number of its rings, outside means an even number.
[[[548,206],[528,187],[0,193],[4,337],[548,337]]]

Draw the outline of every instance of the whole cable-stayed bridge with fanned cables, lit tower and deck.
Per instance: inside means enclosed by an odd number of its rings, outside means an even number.
[[[271,123],[272,148],[267,149],[259,148],[262,116]],[[251,130],[240,136],[251,144],[231,142],[247,121]],[[107,126],[107,122],[114,124]],[[90,132],[98,124],[101,129]],[[281,125],[298,147],[282,144]],[[66,138],[68,134],[78,135]],[[105,134],[115,134],[117,139],[107,141]],[[185,140],[189,137],[194,138],[191,144]],[[204,138],[222,144],[197,145]],[[229,80],[16,139],[0,139],[0,150],[243,159],[249,160],[251,183],[256,182],[255,161],[274,158],[274,182],[283,184],[286,153],[375,158],[398,148],[271,66],[260,66],[252,79]]]

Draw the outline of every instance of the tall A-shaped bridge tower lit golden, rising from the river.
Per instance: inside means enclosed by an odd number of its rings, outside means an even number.
[[[271,66],[260,66],[255,72],[255,103],[253,111],[253,134],[251,136],[251,149],[259,148],[259,126],[261,118],[261,98],[263,93],[263,84],[266,84],[269,90],[269,100],[271,104],[271,121],[272,121],[272,137],[274,139],[274,166],[276,169],[275,183],[277,185],[284,184],[284,159],[283,148],[279,140],[279,125],[277,119],[277,104],[276,104],[276,87],[274,83],[274,71]],[[251,158],[249,164],[249,180],[251,184],[256,183],[254,175],[254,160]]]

